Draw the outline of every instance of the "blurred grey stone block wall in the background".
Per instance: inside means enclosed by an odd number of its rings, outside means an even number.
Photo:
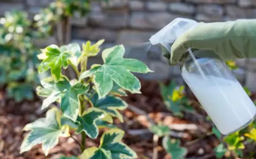
[[[27,10],[30,16],[52,0],[0,0],[0,15],[11,9]],[[177,17],[195,19],[201,22],[216,22],[256,17],[255,0],[109,0],[110,5],[92,2],[92,11],[82,18],[72,18],[72,41],[82,44],[86,40],[105,39],[104,48],[124,44],[127,57],[138,58],[155,72],[137,75],[147,79],[180,77],[179,66],[168,66],[158,46],[144,53],[151,35]],[[55,43],[52,37],[40,44]],[[141,45],[143,44],[143,45]],[[137,47],[130,47],[137,45]],[[100,55],[92,58],[90,64],[101,62]],[[241,69],[234,73],[251,90],[256,91],[256,60],[238,60]]]

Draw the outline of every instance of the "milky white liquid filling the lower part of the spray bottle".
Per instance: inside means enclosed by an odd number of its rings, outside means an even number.
[[[238,81],[190,73],[183,78],[222,134],[237,131],[255,118],[256,106]]]

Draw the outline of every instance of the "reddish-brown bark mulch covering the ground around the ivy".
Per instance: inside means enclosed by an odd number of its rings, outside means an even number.
[[[122,111],[124,123],[115,120],[116,125],[126,131],[123,142],[129,145],[138,154],[138,158],[152,158],[153,141],[152,133],[147,131],[150,126],[149,116],[152,122],[162,122],[165,125],[174,125],[173,136],[181,139],[181,144],[188,149],[187,157],[190,158],[215,158],[213,148],[219,143],[213,135],[205,136],[211,126],[196,115],[185,113],[183,118],[177,118],[164,106],[159,92],[157,81],[142,82],[142,94],[129,94],[123,98],[131,107],[139,108],[146,115],[127,108]],[[37,145],[29,152],[19,154],[19,147],[22,143],[25,132],[22,128],[27,123],[33,122],[45,116],[41,110],[41,100],[35,99],[32,102],[24,101],[15,103],[7,100],[3,91],[0,91],[0,158],[1,159],[43,159],[59,158],[66,155],[80,154],[79,145],[72,138],[60,138],[59,144],[53,148],[47,157],[44,156],[41,145]],[[195,104],[195,108],[197,108]],[[205,115],[205,112],[200,112]],[[200,116],[199,116],[200,117]],[[181,127],[184,125],[185,127]],[[188,127],[191,127],[188,129]],[[196,127],[196,128],[195,128]],[[101,131],[102,134],[102,131]],[[202,137],[203,136],[203,137]],[[80,136],[74,136],[80,140]],[[201,138],[200,138],[201,137]],[[100,137],[98,137],[100,138]],[[199,138],[200,140],[193,141]],[[86,141],[87,147],[98,146],[100,140]],[[158,158],[171,158],[164,151],[161,138],[158,141]]]

